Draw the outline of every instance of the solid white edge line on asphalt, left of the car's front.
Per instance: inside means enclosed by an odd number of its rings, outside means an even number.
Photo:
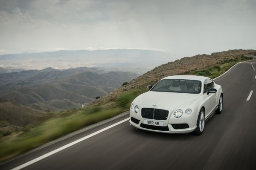
[[[69,144],[66,144],[66,145],[64,145],[64,146],[62,146],[62,147],[59,147],[58,149],[52,150],[51,152],[46,153],[46,154],[44,154],[44,155],[42,155],[42,156],[39,156],[39,157],[37,157],[37,158],[35,158],[35,159],[32,159],[31,161],[28,161],[28,162],[26,162],[26,163],[24,163],[24,164],[21,164],[20,166],[17,166],[17,167],[15,167],[15,168],[13,168],[12,170],[20,170],[20,169],[22,169],[22,168],[24,168],[24,167],[27,167],[27,166],[29,166],[29,165],[31,165],[31,164],[34,164],[34,163],[37,162],[37,161],[40,161],[40,160],[42,160],[42,159],[44,159],[44,158],[47,158],[48,156],[51,156],[51,155],[53,155],[53,154],[55,154],[55,153],[58,153],[58,152],[60,152],[61,150],[67,149],[68,147],[71,147],[71,146],[73,146],[74,144],[77,144],[77,143],[79,143],[79,142],[81,142],[81,141],[84,141],[84,140],[87,139],[87,138],[90,138],[90,137],[92,137],[92,136],[94,136],[94,135],[97,135],[97,134],[99,134],[99,133],[102,133],[102,132],[104,132],[105,130],[108,130],[108,129],[112,128],[112,127],[115,127],[116,125],[122,124],[123,122],[128,121],[129,119],[130,119],[130,118],[126,118],[126,119],[124,119],[124,120],[122,120],[122,121],[119,121],[119,122],[117,122],[117,123],[115,123],[115,124],[112,124],[112,125],[110,125],[110,126],[108,126],[108,127],[105,127],[105,128],[103,128],[103,129],[101,129],[101,130],[98,130],[98,131],[96,131],[96,132],[94,132],[94,133],[92,133],[92,134],[90,134],[90,135],[84,136],[83,138],[80,138],[80,139],[78,139],[78,140],[76,140],[76,141],[73,141],[73,142],[71,142],[71,143],[69,143]]]

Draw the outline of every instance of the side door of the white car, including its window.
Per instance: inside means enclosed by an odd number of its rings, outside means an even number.
[[[206,79],[204,81],[204,99],[206,101],[206,108],[205,108],[205,117],[207,118],[212,110],[215,108],[216,105],[216,97],[217,93],[209,93],[207,92],[209,89],[214,88],[214,82],[211,79]]]

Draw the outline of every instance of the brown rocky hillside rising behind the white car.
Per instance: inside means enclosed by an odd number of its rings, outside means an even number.
[[[186,74],[186,72],[195,69],[204,69],[209,66],[214,66],[216,64],[222,63],[229,59],[234,59],[236,57],[241,57],[243,55],[245,56],[250,54],[256,54],[256,50],[234,49],[224,52],[215,52],[211,55],[203,54],[195,55],[193,57],[184,57],[174,62],[168,62],[128,82],[128,84],[111,91],[104,97],[92,101],[89,105],[93,106],[96,104],[102,104],[113,101],[122,92],[131,89],[146,88],[147,85],[153,85],[161,78],[164,78],[166,76]]]

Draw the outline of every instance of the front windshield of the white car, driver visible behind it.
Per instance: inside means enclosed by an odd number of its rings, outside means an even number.
[[[201,81],[182,79],[163,79],[159,81],[151,91],[155,92],[179,92],[179,93],[200,93]]]

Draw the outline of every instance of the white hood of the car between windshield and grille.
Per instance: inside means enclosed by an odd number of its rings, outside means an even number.
[[[140,107],[174,109],[199,97],[200,94],[149,91],[141,96]]]

